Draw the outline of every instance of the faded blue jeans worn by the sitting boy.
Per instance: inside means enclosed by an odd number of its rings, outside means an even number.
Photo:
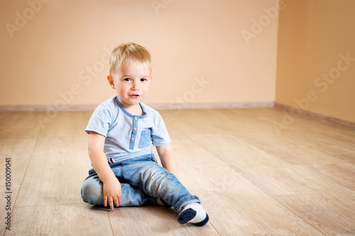
[[[110,164],[121,183],[120,206],[155,205],[160,198],[164,204],[180,212],[190,203],[200,203],[192,196],[174,174],[161,167],[154,154],[116,161]],[[104,205],[103,183],[94,169],[82,184],[82,200],[94,205]]]

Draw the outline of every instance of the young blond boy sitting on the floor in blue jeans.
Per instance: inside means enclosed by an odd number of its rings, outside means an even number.
[[[142,103],[151,84],[151,55],[136,43],[114,48],[109,85],[117,96],[101,103],[85,131],[93,169],[82,184],[84,202],[107,206],[162,205],[178,210],[178,222],[205,225],[197,196],[180,183],[170,137],[160,114]],[[152,153],[157,149],[163,167]]]

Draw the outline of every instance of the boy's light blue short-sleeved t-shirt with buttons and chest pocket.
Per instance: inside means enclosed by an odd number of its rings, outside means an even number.
[[[140,103],[143,116],[133,116],[119,102],[117,96],[104,101],[92,113],[85,131],[106,137],[104,152],[107,159],[119,160],[152,153],[152,145],[168,145],[170,137],[158,111]]]

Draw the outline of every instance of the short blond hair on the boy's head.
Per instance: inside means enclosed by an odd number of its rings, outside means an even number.
[[[111,52],[110,74],[117,66],[124,66],[133,60],[148,65],[149,70],[152,71],[153,61],[146,47],[136,43],[122,43]]]

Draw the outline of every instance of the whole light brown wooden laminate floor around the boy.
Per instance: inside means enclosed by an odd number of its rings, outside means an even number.
[[[355,235],[355,130],[278,108],[160,111],[179,179],[209,213],[195,227],[160,206],[82,202],[91,113],[0,113],[0,235]]]

